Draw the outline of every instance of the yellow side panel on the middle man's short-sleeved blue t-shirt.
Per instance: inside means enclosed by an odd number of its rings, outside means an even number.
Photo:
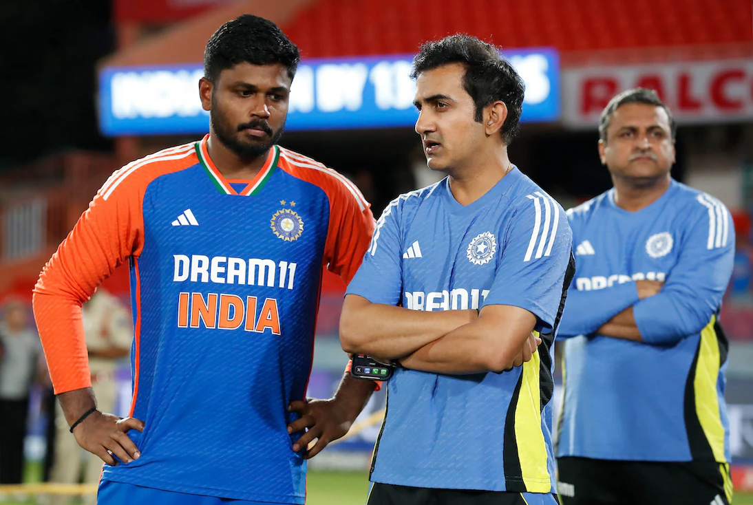
[[[547,469],[547,445],[541,432],[539,367],[541,357],[537,351],[523,364],[523,382],[515,406],[515,441],[523,484],[529,493],[548,493],[552,488]]]

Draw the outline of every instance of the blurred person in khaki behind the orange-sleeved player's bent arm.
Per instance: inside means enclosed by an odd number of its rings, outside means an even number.
[[[84,335],[89,354],[92,391],[97,407],[102,412],[114,412],[117,397],[115,368],[118,360],[130,354],[133,340],[133,324],[130,311],[99,287],[90,300],[81,308]],[[56,436],[54,463],[50,475],[52,482],[78,484],[81,480],[81,447],[69,433],[69,425],[61,407],[55,413]],[[84,484],[96,484],[102,474],[102,460],[93,453],[87,453],[84,464]],[[65,503],[58,497],[56,503]],[[94,496],[87,497],[88,503],[96,503]]]

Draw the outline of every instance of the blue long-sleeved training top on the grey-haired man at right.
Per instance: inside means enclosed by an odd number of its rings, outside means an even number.
[[[609,190],[568,214],[576,273],[558,333],[572,338],[557,456],[730,461],[718,321],[734,256],[727,208],[672,181],[637,212]],[[643,279],[665,284],[639,300]],[[596,333],[630,306],[644,342]]]

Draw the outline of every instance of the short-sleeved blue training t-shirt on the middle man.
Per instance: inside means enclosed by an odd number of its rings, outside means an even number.
[[[348,294],[426,311],[519,306],[544,343],[505,373],[396,370],[370,480],[553,491],[551,352],[571,247],[562,208],[517,168],[470,205],[449,178],[390,203]]]

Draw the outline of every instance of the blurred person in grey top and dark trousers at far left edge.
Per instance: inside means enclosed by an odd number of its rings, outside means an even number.
[[[20,484],[23,478],[29,388],[41,352],[39,337],[29,327],[28,310],[26,303],[8,300],[0,323],[0,484]]]

